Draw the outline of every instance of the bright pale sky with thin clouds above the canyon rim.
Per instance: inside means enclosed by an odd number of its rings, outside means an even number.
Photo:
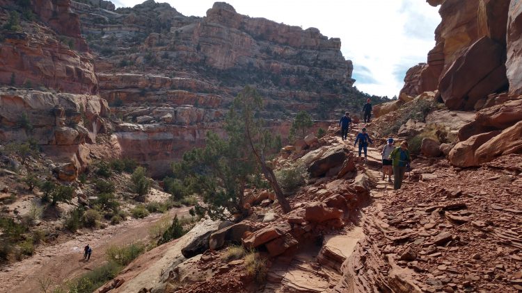
[[[144,0],[111,0],[129,7]],[[214,0],[156,0],[183,15],[205,16]],[[426,62],[441,22],[424,0],[226,0],[235,10],[340,37],[342,55],[354,62],[355,86],[379,96],[398,95],[406,71]]]

